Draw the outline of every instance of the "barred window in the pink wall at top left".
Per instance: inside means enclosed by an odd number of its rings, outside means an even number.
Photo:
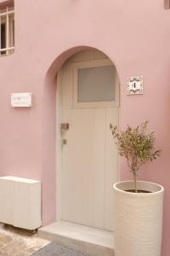
[[[14,2],[0,4],[0,55],[14,53]]]

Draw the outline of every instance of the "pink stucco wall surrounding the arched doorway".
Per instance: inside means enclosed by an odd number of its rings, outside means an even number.
[[[3,2],[0,0],[0,3]],[[66,58],[94,47],[115,63],[121,126],[150,120],[161,157],[140,179],[165,187],[162,255],[170,243],[170,11],[162,0],[15,0],[15,52],[0,58],[0,175],[42,180],[43,224],[55,218],[54,76]],[[78,47],[82,46],[82,47]],[[144,76],[144,95],[126,96],[126,78]],[[33,107],[10,107],[32,92]],[[122,162],[121,177],[127,178]]]

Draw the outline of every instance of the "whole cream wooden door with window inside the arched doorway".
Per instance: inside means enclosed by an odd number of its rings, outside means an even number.
[[[118,125],[117,76],[116,73],[113,74],[114,83],[111,84],[113,100],[107,101],[107,97],[110,97],[108,91],[102,102],[99,99],[103,93],[98,91],[102,90],[102,84],[99,89],[96,87],[98,84],[91,88],[89,79],[92,79],[93,83],[99,79],[100,83],[103,80],[102,72],[104,76],[111,76],[113,64],[106,58],[89,60],[88,52],[86,58],[84,53],[82,58],[81,54],[79,55],[79,61],[76,62],[72,57],[59,71],[58,76],[59,218],[104,230],[114,230],[112,185],[117,181],[118,167],[110,124]],[[102,67],[105,67],[104,70]],[[82,70],[82,74],[78,73],[79,70]],[[98,75],[96,81],[95,74]],[[101,83],[104,82],[105,78]],[[83,92],[84,89],[78,87],[78,83],[82,83],[82,87],[88,86],[89,91]],[[112,91],[111,86],[108,84],[106,90]],[[61,124],[69,124],[69,127],[63,125],[64,129],[60,129]]]

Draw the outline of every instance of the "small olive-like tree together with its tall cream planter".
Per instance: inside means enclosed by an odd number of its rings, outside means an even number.
[[[114,184],[115,256],[161,256],[163,187],[137,181],[140,166],[156,160],[154,132],[147,132],[148,121],[125,131],[111,125],[118,153],[127,160],[132,181]]]

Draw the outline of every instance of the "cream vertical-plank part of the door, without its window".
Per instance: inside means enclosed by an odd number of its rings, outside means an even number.
[[[110,123],[118,124],[118,108],[73,108],[71,63],[70,59],[62,67],[58,84],[58,122],[70,125],[58,139],[60,218],[113,230],[112,185],[117,180],[117,152]],[[62,139],[66,144],[61,143]]]

